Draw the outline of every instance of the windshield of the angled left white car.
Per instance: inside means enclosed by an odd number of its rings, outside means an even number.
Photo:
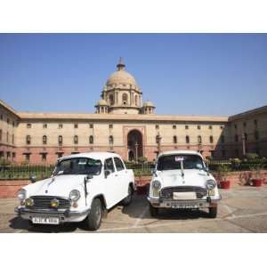
[[[53,175],[62,174],[101,174],[101,160],[93,158],[68,158],[61,160]]]

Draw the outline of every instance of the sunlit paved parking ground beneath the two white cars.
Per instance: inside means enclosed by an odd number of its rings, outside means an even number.
[[[267,186],[221,190],[223,200],[216,219],[204,211],[161,211],[151,218],[144,196],[135,195],[131,206],[115,206],[98,232],[267,232]],[[0,199],[0,232],[87,232],[82,223],[38,226],[13,213],[16,199]]]

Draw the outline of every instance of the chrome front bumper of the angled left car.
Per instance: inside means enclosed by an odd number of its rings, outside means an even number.
[[[60,223],[82,222],[90,213],[90,209],[83,211],[70,211],[69,209],[29,209],[24,206],[15,208],[15,213],[25,220],[32,220],[33,217],[58,217]]]

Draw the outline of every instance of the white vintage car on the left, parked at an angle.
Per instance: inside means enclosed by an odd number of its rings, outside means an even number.
[[[52,177],[19,190],[15,211],[33,224],[85,221],[95,231],[104,212],[119,202],[129,205],[133,193],[133,170],[117,154],[80,153],[60,158]]]

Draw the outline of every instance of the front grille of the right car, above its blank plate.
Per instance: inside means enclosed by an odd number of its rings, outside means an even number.
[[[207,195],[207,190],[198,186],[176,186],[167,187],[160,191],[161,198],[173,198],[174,192],[196,192],[197,198],[204,198]]]

